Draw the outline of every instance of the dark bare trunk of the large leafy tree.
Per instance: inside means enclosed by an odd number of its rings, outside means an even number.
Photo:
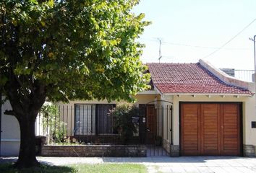
[[[14,164],[16,168],[38,167],[40,164],[35,158],[35,118],[36,115],[23,115],[20,123],[20,153]]]

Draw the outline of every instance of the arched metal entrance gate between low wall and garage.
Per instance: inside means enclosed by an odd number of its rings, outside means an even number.
[[[147,156],[169,156],[172,143],[172,103],[165,100],[139,105],[140,138]]]

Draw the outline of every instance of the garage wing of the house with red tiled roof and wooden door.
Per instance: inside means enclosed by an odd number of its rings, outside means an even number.
[[[255,156],[254,84],[202,60],[148,67],[161,99],[173,102],[171,155]]]

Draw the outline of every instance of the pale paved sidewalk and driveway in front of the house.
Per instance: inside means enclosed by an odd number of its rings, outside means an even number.
[[[149,173],[256,173],[256,158],[229,156],[193,156],[193,157],[37,157],[42,163],[54,165],[137,163],[145,164]],[[15,161],[17,158],[4,157],[1,162]]]

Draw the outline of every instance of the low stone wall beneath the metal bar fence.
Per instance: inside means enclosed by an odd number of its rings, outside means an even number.
[[[144,145],[42,146],[41,156],[147,156]]]

